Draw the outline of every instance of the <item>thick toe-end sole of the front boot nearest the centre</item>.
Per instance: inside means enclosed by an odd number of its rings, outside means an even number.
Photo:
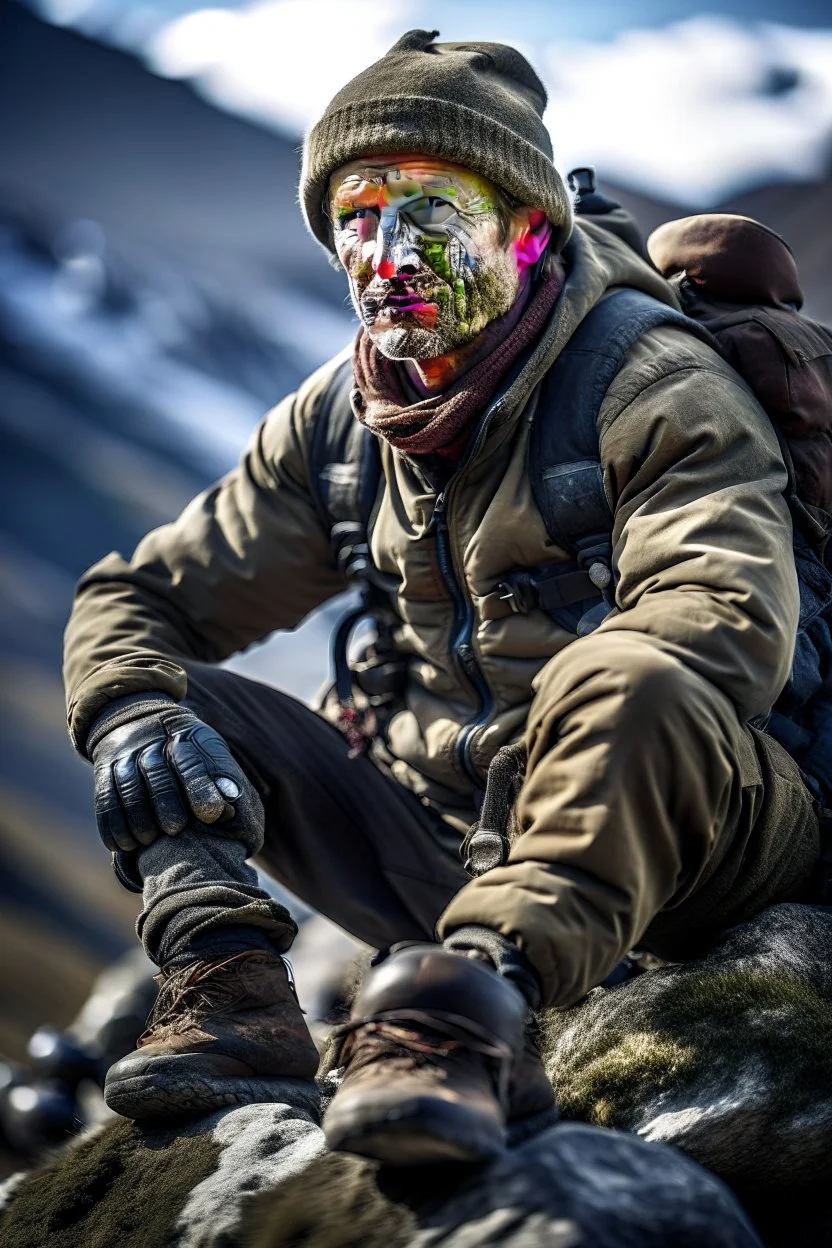
[[[373,1097],[333,1101],[323,1119],[333,1152],[357,1153],[384,1166],[429,1166],[437,1162],[486,1162],[505,1149],[505,1132],[495,1119],[462,1104],[432,1097],[408,1101]]]

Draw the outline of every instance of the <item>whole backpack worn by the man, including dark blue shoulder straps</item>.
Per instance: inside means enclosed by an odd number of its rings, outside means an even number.
[[[570,183],[579,215],[594,217],[644,255],[632,220],[595,190],[591,171],[575,171]],[[762,235],[765,266],[760,265]],[[746,255],[750,238],[752,257]],[[496,588],[506,612],[544,610],[579,636],[597,628],[614,607],[615,589],[612,515],[596,432],[601,402],[627,351],[649,329],[680,326],[709,342],[742,373],[768,412],[790,474],[800,623],[791,678],[758,726],[796,759],[818,807],[832,807],[832,572],[827,565],[832,332],[798,314],[802,297],[787,245],[748,218],[704,215],[670,222],[654,232],[647,247],[685,311],[641,291],[619,288],[580,323],[541,382],[529,442],[535,503],[549,535],[569,560],[516,569]],[[761,272],[771,290],[761,282]],[[359,750],[378,730],[384,708],[395,701],[404,674],[392,638],[394,585],[373,568],[367,542],[382,477],[380,451],[375,437],[353,417],[351,387],[352,366],[346,361],[322,399],[309,447],[309,479],[338,563],[359,588],[359,604],[333,639],[342,728]],[[377,623],[377,640],[351,669],[349,638],[367,615]]]

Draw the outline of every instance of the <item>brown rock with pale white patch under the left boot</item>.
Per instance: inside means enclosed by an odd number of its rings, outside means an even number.
[[[313,1083],[276,1080],[269,1094],[188,1124],[116,1118],[76,1137],[0,1188],[2,1248],[231,1248],[252,1193],[324,1147]]]

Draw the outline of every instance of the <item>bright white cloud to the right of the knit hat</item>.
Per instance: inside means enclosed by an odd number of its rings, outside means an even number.
[[[832,31],[696,17],[540,59],[561,167],[697,205],[828,172]]]

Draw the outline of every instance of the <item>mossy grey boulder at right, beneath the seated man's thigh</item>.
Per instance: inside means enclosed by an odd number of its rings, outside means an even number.
[[[832,1177],[828,910],[772,906],[704,958],[596,988],[541,1026],[565,1116],[676,1144],[766,1224],[788,1198],[797,1233]]]

